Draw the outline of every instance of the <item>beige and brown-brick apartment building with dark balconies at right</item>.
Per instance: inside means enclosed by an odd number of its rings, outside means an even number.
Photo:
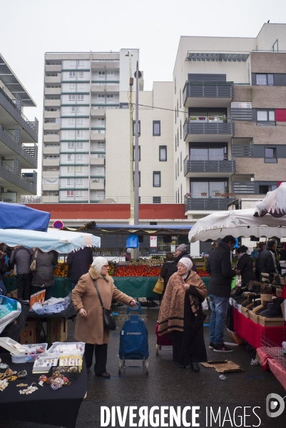
[[[286,180],[286,24],[182,36],[173,72],[175,198],[190,220]]]

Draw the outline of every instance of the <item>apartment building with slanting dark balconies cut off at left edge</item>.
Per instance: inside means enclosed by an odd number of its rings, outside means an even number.
[[[0,200],[20,203],[36,195],[39,123],[24,107],[36,107],[26,88],[0,54]]]

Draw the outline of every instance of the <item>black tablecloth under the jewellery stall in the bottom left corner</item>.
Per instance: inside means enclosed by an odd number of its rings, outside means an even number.
[[[9,365],[12,370],[26,370],[26,379],[9,381],[9,386],[0,391],[0,415],[1,419],[16,419],[24,422],[36,422],[38,424],[50,424],[57,427],[74,428],[78,410],[87,391],[86,363],[83,360],[83,369],[78,374],[78,379],[71,379],[70,386],[63,386],[56,391],[50,385],[38,385],[41,373],[32,374],[33,364],[14,364],[10,354],[0,354],[2,362]],[[0,372],[5,370],[1,369]],[[47,374],[46,374],[47,375]],[[36,382],[39,389],[32,394],[19,394],[19,383],[29,386]]]

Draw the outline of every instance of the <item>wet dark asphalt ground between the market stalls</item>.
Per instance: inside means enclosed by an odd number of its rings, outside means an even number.
[[[204,334],[207,345],[208,360],[221,361],[232,360],[242,367],[243,372],[225,374],[225,381],[219,379],[219,373],[213,368],[201,367],[200,372],[193,372],[190,368],[183,369],[172,362],[172,350],[166,347],[155,355],[155,325],[158,318],[158,307],[143,307],[143,320],[148,328],[149,335],[149,374],[141,369],[125,369],[121,376],[118,375],[118,344],[119,332],[126,320],[126,306],[113,308],[118,312],[116,332],[111,332],[111,340],[108,345],[107,370],[111,373],[111,379],[95,377],[93,372],[88,374],[87,397],[81,404],[76,422],[76,428],[101,427],[101,407],[120,406],[123,412],[125,406],[173,406],[183,408],[198,406],[195,412],[198,418],[193,422],[200,427],[263,427],[285,428],[286,409],[279,417],[268,417],[265,412],[266,397],[270,393],[280,394],[285,397],[286,392],[280,382],[269,370],[263,372],[262,367],[252,366],[250,362],[255,358],[255,350],[247,350],[245,345],[235,346],[234,352],[223,355],[208,348],[209,317],[205,320]],[[67,342],[73,342],[74,323],[68,321]],[[225,341],[233,342],[225,330]],[[129,363],[129,362],[127,362]],[[126,364],[127,364],[126,363]],[[130,362],[134,363],[134,362]],[[3,392],[0,392],[1,394]],[[256,408],[255,408],[256,407]],[[235,409],[236,408],[236,409]],[[255,408],[255,409],[254,409]],[[51,411],[51,409],[47,409]],[[135,410],[138,412],[138,409]],[[210,420],[210,414],[216,419]],[[168,411],[167,411],[168,414]],[[190,418],[191,411],[187,412],[189,426],[195,426]],[[129,413],[128,413],[129,417]],[[134,419],[134,422],[138,419]],[[152,422],[152,421],[151,421]],[[164,420],[160,419],[153,426],[164,426]],[[165,419],[168,425],[168,417]],[[111,424],[106,425],[111,427]],[[113,426],[119,427],[118,418]],[[131,426],[126,419],[125,427]],[[133,425],[136,426],[136,425]],[[144,426],[144,424],[143,424]],[[150,422],[148,427],[152,426]],[[174,426],[177,426],[174,424]],[[183,422],[178,426],[184,426]],[[186,425],[185,425],[186,426]],[[1,422],[2,428],[38,428],[39,424],[31,422],[5,421]],[[41,425],[42,428],[51,428],[49,425]]]

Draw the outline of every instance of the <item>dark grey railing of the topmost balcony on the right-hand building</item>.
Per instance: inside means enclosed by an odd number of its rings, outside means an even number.
[[[233,99],[233,82],[186,81],[183,88],[183,103],[190,98],[230,98]]]

